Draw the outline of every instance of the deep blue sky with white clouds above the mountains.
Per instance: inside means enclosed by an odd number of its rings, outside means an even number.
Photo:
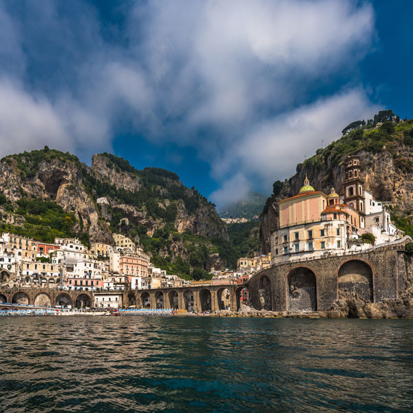
[[[109,151],[219,207],[393,109],[413,1],[0,0],[0,156]]]

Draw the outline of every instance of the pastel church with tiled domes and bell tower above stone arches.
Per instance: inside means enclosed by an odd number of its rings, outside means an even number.
[[[308,181],[299,193],[279,202],[276,230],[271,235],[271,263],[344,255],[370,248],[363,234],[374,235],[374,244],[398,238],[383,202],[364,187],[360,160],[346,161],[343,194],[332,188],[327,195]]]

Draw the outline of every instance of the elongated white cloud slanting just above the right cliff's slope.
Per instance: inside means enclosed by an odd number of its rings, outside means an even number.
[[[220,160],[215,168],[224,173],[222,165],[241,165],[244,173],[262,177],[267,187],[276,179],[295,172],[304,156],[341,137],[341,129],[353,120],[372,118],[381,107],[372,105],[363,89],[352,89],[311,105],[266,120],[246,134],[226,153],[228,162]]]

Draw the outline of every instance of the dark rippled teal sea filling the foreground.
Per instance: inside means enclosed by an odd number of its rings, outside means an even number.
[[[413,412],[413,320],[2,317],[0,412]]]

